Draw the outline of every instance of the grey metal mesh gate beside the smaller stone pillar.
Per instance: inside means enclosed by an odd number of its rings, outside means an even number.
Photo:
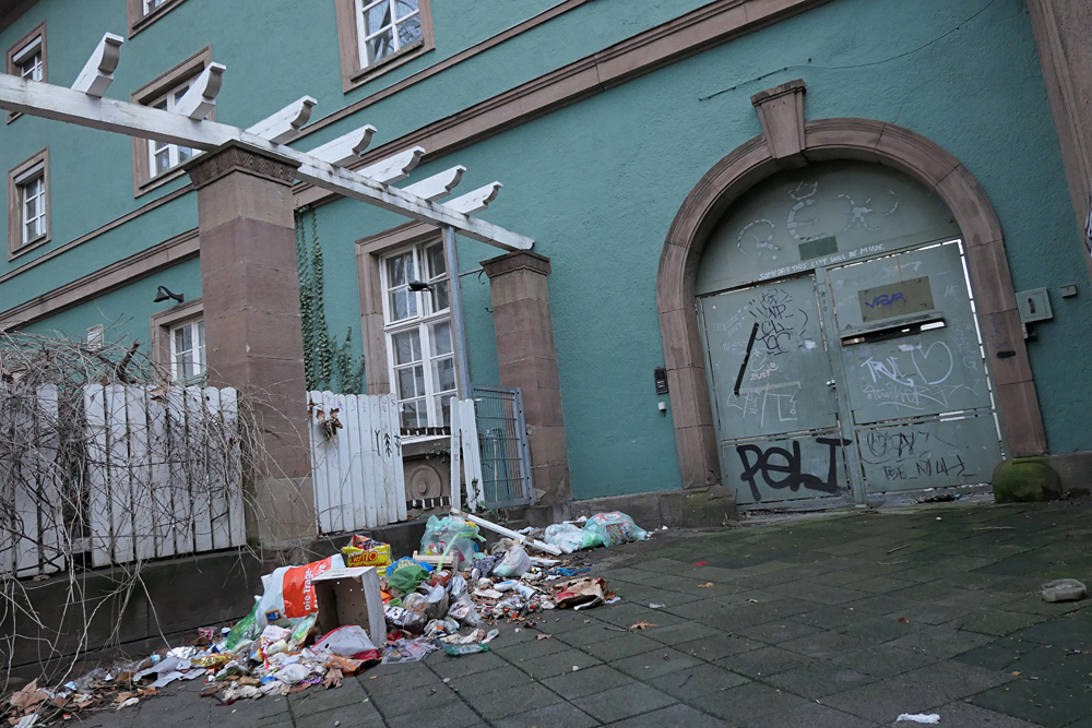
[[[490,509],[534,503],[531,451],[519,387],[473,384],[482,485]]]

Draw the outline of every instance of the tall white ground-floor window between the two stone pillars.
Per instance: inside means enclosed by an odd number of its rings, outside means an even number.
[[[387,255],[380,272],[391,390],[402,427],[447,427],[458,384],[443,242]]]

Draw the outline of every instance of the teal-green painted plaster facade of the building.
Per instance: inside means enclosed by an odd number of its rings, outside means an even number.
[[[219,121],[247,127],[310,94],[312,121],[492,37],[553,3],[432,1],[436,50],[344,94],[332,0],[186,0],[122,47],[108,95],[128,94],[210,45],[228,68]],[[383,144],[520,83],[701,7],[699,0],[595,0],[380,100],[294,144],[311,148],[363,123]],[[985,9],[983,10],[983,8]],[[980,13],[981,11],[981,13]],[[0,33],[9,47],[41,20],[48,75],[69,85],[103,32],[124,27],[122,0],[43,0]],[[976,13],[978,13],[976,15]],[[968,21],[968,19],[973,20]],[[966,21],[966,22],[964,22]],[[957,29],[958,28],[958,29]],[[550,301],[572,491],[577,499],[680,487],[670,407],[654,392],[664,363],[656,272],[686,195],[719,159],[761,133],[750,95],[792,79],[808,86],[808,119],[859,117],[911,129],[959,158],[992,201],[1017,290],[1047,287],[1055,318],[1029,353],[1051,452],[1092,450],[1092,290],[1081,260],[1058,140],[1023,0],[832,0],[620,86],[428,158],[410,181],[453,164],[460,189],[494,179],[480,216],[536,240],[551,260]],[[729,91],[725,91],[729,89]],[[717,92],[715,97],[707,98]],[[133,198],[124,136],[20,118],[0,130],[9,169],[50,148],[51,242],[0,263],[0,311],[197,226],[189,193],[40,265],[40,255],[180,187]],[[360,346],[354,241],[402,220],[339,200],[318,210],[327,321]],[[498,251],[460,242],[464,271]],[[472,378],[499,380],[488,281],[462,278]],[[1076,298],[1058,288],[1077,284]],[[182,263],[28,326],[82,336],[119,321],[147,341],[155,287],[200,295],[198,261]],[[667,397],[669,405],[669,396]]]

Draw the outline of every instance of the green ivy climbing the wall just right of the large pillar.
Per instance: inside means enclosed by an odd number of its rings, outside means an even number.
[[[336,336],[330,335],[327,327],[322,248],[319,246],[319,223],[311,207],[296,210],[296,264],[299,270],[299,315],[304,329],[307,389],[360,394],[364,391],[364,357],[354,358],[351,353],[353,327],[348,327],[342,344],[337,343]]]

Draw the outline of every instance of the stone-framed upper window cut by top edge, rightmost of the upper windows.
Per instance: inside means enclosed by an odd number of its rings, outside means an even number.
[[[335,2],[344,91],[435,47],[429,0]]]

